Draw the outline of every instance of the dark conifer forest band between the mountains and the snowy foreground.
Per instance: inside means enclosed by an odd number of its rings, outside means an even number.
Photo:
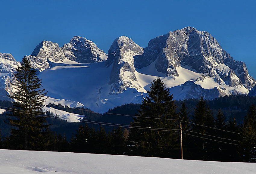
[[[1,148],[256,162],[255,97],[175,101],[157,78],[141,104],[104,114],[48,105],[85,115],[80,123],[69,123],[42,112],[46,92],[25,57],[15,78],[17,92],[9,95],[15,101],[0,101],[7,110],[0,114]]]

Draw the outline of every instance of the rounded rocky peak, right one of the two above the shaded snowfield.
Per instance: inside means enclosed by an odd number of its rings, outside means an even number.
[[[80,36],[73,37],[62,49],[67,59],[83,64],[105,61],[108,58],[95,43]]]

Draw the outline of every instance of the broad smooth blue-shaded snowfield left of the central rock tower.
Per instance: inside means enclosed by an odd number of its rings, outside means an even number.
[[[118,95],[109,94],[110,73],[111,66],[106,68],[105,62],[59,64],[42,71],[38,77],[51,98],[77,101],[96,112],[105,112],[121,104],[141,102],[142,93],[136,89],[127,89],[128,92]]]

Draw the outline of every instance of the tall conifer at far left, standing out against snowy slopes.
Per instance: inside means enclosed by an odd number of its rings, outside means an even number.
[[[14,108],[9,118],[11,136],[10,144],[19,149],[45,150],[49,144],[49,125],[42,117],[43,96],[47,94],[42,89],[42,81],[32,69],[27,57],[24,57],[20,67],[14,74],[16,79],[12,84],[14,92],[9,95],[13,99]]]

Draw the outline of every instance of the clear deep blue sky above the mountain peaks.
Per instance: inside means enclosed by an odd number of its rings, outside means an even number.
[[[150,39],[192,26],[208,31],[256,78],[255,9],[253,0],[1,0],[0,52],[20,61],[43,40],[61,47],[82,36],[107,53],[119,36],[146,47]]]

